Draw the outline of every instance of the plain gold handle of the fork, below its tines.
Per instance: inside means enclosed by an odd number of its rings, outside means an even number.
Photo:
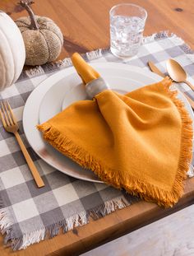
[[[21,147],[21,151],[22,151],[23,155],[25,156],[25,160],[26,160],[26,162],[27,162],[27,164],[28,164],[28,166],[30,168],[31,174],[33,175],[33,177],[35,179],[35,183],[37,184],[37,186],[39,188],[44,187],[44,181],[40,177],[39,172],[36,169],[35,164],[32,161],[32,159],[31,159],[31,157],[29,155],[29,152],[27,151],[27,149],[26,149],[26,147],[24,145],[24,142],[22,142],[19,133],[16,132],[16,133],[14,133],[14,135],[16,136],[16,140],[17,140],[18,144]]]

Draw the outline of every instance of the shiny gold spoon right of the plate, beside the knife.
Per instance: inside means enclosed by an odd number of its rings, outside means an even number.
[[[173,81],[185,82],[187,86],[192,88],[192,91],[194,91],[194,86],[192,86],[191,82],[187,81],[187,73],[178,62],[172,58],[168,59],[166,62],[166,68],[169,72],[169,76],[173,79]]]

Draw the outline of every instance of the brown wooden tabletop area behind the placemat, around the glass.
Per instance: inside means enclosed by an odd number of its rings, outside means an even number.
[[[1,0],[0,9],[14,20],[27,13],[18,0]],[[145,35],[169,30],[194,48],[193,0],[36,0],[32,6],[36,15],[48,16],[62,30],[64,45],[59,58],[75,51],[109,47],[109,9],[121,2],[133,2],[148,12]]]

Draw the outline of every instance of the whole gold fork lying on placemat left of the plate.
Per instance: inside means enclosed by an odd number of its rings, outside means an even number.
[[[19,133],[17,132],[19,129],[18,123],[16,122],[16,118],[12,112],[11,106],[8,101],[1,102],[2,109],[0,109],[0,116],[2,119],[2,125],[8,133],[13,133],[16,137],[16,140],[21,147],[21,151],[25,156],[25,160],[31,170],[31,174],[33,175],[35,182],[39,188],[44,187],[44,181],[40,177],[38,170],[35,167],[34,162],[32,161],[24,143],[21,140]]]

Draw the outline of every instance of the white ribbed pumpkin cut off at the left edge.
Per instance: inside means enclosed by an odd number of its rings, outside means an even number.
[[[25,44],[21,31],[0,10],[0,91],[18,79],[25,63]]]

